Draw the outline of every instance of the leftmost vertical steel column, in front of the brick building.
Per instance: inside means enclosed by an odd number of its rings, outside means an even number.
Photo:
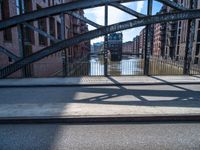
[[[24,0],[19,0],[19,15],[24,13]],[[21,58],[25,57],[25,45],[24,45],[24,25],[20,24],[17,26],[18,39],[19,39],[19,51]],[[27,77],[26,67],[22,68],[22,77]]]

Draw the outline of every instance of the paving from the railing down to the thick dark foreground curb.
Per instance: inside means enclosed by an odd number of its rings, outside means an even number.
[[[1,85],[63,85],[96,83],[163,83],[169,85],[113,85],[75,87],[1,87],[0,118],[7,117],[137,117],[200,115],[200,78],[120,77],[1,80]],[[83,80],[84,79],[84,80]],[[86,79],[90,79],[89,81]],[[96,81],[94,79],[101,79]],[[143,80],[142,80],[143,79]],[[50,81],[48,81],[50,80]],[[66,82],[61,82],[61,81]],[[117,80],[117,81],[116,81]],[[163,81],[164,80],[164,81]],[[6,82],[7,81],[7,82]],[[11,82],[13,81],[13,82]],[[20,82],[22,81],[22,82]],[[29,82],[26,82],[29,81]],[[34,81],[34,82],[33,82]],[[37,81],[37,83],[36,83]],[[40,81],[40,82],[39,82]],[[46,82],[42,82],[46,81]],[[70,84],[69,82],[70,81]],[[75,82],[76,81],[76,82]],[[145,82],[144,82],[145,81]],[[190,84],[183,84],[190,83]],[[7,83],[7,84],[6,84]],[[21,84],[20,84],[21,83]],[[182,83],[182,84],[181,84]],[[193,84],[192,84],[193,83]]]

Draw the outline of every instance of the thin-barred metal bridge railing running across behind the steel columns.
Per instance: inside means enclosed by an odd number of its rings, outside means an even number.
[[[22,78],[23,73],[26,73],[28,78],[104,76],[104,63],[101,61],[72,62],[68,63],[66,67],[67,74],[64,76],[62,62],[33,63],[26,65],[23,70],[25,72],[19,70],[7,78]],[[183,75],[183,68],[184,63],[181,60],[151,58],[149,72],[150,75]],[[191,63],[190,75],[197,74],[200,74],[200,65]],[[108,61],[108,75],[142,76],[144,75],[144,59]]]

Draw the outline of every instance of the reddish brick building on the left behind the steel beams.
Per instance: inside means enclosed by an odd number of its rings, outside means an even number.
[[[28,13],[33,10],[39,10],[45,7],[53,5],[67,3],[72,0],[24,0],[24,6],[22,7],[23,13]],[[5,0],[2,1],[0,8],[0,19],[4,20],[9,17],[19,15],[19,0]],[[84,15],[82,10],[77,11],[80,15]],[[67,14],[64,16],[65,20],[65,39],[76,36],[78,34],[88,31],[86,23],[75,19]],[[39,28],[40,30],[50,34],[56,39],[61,39],[61,16],[50,16],[39,19],[29,23],[30,25]],[[34,32],[28,27],[24,28],[24,51],[19,47],[19,28],[13,27],[0,32],[0,46],[9,50],[18,57],[28,56],[35,53],[45,47],[48,47],[54,43],[54,41],[46,38],[45,36]],[[52,76],[57,72],[62,71],[63,57],[67,57],[69,62],[77,61],[82,59],[89,53],[90,42],[82,42],[74,47],[66,50],[66,56],[63,56],[62,51],[48,56],[32,65],[28,66],[28,73],[26,70],[27,77],[41,77],[41,76]],[[3,68],[9,64],[12,64],[14,60],[4,53],[0,52],[0,68]],[[21,77],[22,72],[18,71],[11,75],[12,77]]]

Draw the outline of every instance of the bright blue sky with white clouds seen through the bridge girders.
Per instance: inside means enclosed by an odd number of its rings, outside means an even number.
[[[131,8],[139,13],[142,13],[142,14],[147,13],[147,11],[146,11],[147,10],[147,2],[146,1],[145,2],[138,1],[138,2],[123,3],[123,5]],[[161,9],[161,7],[162,7],[162,4],[154,1],[153,14],[158,12]],[[87,17],[88,19],[90,19],[93,22],[96,22],[100,25],[104,25],[104,10],[105,10],[104,7],[96,7],[96,8],[86,9],[84,11],[85,17]],[[108,24],[109,25],[134,19],[133,16],[131,16],[117,8],[109,6],[108,10],[109,10],[108,11],[108,20],[109,20]],[[144,27],[139,27],[139,28],[122,31],[123,42],[132,41],[135,36],[139,35],[140,31],[143,28]],[[95,29],[94,27],[89,25],[89,30],[94,30],[94,29]],[[103,40],[104,40],[103,37],[96,38],[91,41],[91,44],[96,43],[96,42],[101,42]]]

